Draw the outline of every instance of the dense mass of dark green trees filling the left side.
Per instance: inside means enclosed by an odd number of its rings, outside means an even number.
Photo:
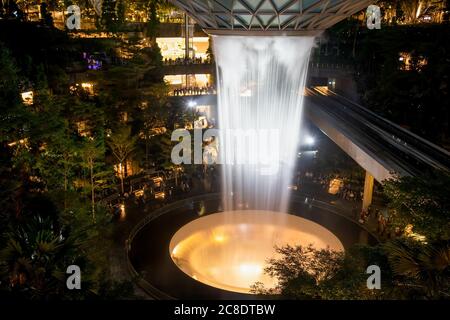
[[[89,96],[68,90],[68,70],[77,67],[74,52],[109,55],[124,43],[70,40],[54,28],[9,20],[0,24],[6,43],[0,43],[0,290],[29,299],[129,297],[131,283],[112,280],[110,258],[117,244],[111,215],[99,202],[102,191],[116,185],[105,144],[121,154],[130,140],[138,146],[137,134],[152,134],[169,122],[159,48],[124,47],[133,55],[128,64],[89,72],[100,92]],[[34,103],[25,106],[20,93],[30,88]],[[122,134],[124,112],[129,127]],[[112,133],[110,139],[105,132]],[[149,152],[157,151],[156,162],[163,166],[171,141],[170,135],[161,138],[152,141]],[[135,151],[125,149],[125,158]],[[65,268],[72,263],[82,267],[82,292],[65,289]]]

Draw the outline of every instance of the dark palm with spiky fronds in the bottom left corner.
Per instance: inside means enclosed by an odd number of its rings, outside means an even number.
[[[31,299],[60,297],[66,290],[67,266],[83,260],[81,235],[64,235],[50,218],[37,216],[5,236],[0,279],[8,289]]]

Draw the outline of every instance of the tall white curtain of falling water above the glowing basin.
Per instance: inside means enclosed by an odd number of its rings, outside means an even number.
[[[224,210],[287,209],[313,42],[214,38]]]

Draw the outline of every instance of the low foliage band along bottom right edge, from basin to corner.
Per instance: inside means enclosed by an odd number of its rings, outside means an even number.
[[[355,245],[343,252],[312,246],[276,248],[265,273],[278,282],[274,289],[261,283],[253,292],[287,299],[368,300],[449,298],[448,240],[421,243],[399,238],[378,246]],[[367,288],[367,267],[381,270],[381,289]]]

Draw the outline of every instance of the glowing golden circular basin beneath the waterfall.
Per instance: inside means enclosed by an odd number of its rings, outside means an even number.
[[[321,225],[272,211],[230,211],[196,219],[172,237],[169,252],[184,273],[215,288],[250,293],[261,282],[273,288],[276,279],[264,273],[274,247],[309,245],[343,251],[339,239]]]

